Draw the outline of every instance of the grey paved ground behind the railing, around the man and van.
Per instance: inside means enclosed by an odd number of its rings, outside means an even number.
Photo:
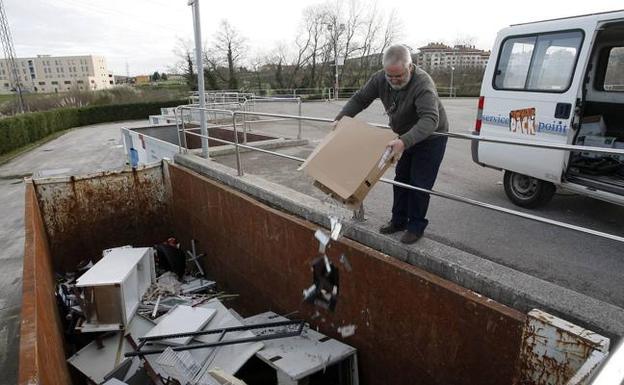
[[[303,115],[333,117],[342,104],[344,102],[304,104]],[[444,104],[451,131],[471,131],[476,99],[447,99]],[[275,104],[258,106],[257,110],[296,112],[294,106]],[[381,104],[377,102],[360,117],[369,122],[386,123]],[[275,134],[296,133],[292,123],[256,127]],[[326,124],[306,124],[303,137],[311,138],[311,143],[305,148],[280,152],[305,158],[327,131]],[[296,162],[259,153],[244,154],[243,159],[249,173],[322,196],[296,171]],[[235,164],[232,157],[217,158],[217,161],[232,167]],[[389,170],[385,176],[392,179],[394,170]],[[503,191],[502,173],[474,164],[470,143],[464,140],[449,141],[435,189],[624,236],[624,207],[570,194],[557,194],[548,206],[538,210],[514,206]],[[365,203],[370,225],[377,226],[388,220],[391,205],[391,186],[375,186]],[[431,223],[426,233],[429,238],[624,307],[624,258],[622,245],[617,242],[436,197],[432,199],[429,218]]]

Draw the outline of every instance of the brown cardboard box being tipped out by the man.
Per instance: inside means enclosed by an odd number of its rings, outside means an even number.
[[[348,208],[357,209],[395,159],[384,158],[397,135],[357,119],[342,118],[299,168],[314,185]]]

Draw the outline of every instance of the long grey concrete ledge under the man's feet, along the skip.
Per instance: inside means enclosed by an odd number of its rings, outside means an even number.
[[[351,213],[314,197],[193,155],[176,155],[179,165],[244,192],[265,204],[329,227],[328,215]],[[528,312],[537,308],[609,338],[624,336],[624,309],[431,239],[414,246],[380,235],[363,224],[343,221],[345,236],[455,282],[497,302]]]

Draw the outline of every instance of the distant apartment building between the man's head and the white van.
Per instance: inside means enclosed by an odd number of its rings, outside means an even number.
[[[429,43],[418,48],[416,63],[429,70],[449,67],[485,68],[490,59],[490,51],[476,49],[475,46]]]

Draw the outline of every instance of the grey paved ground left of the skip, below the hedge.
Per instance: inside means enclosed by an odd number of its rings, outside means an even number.
[[[17,382],[24,255],[23,176],[44,170],[70,169],[68,172],[83,174],[122,167],[126,159],[119,129],[146,123],[97,124],[72,130],[0,166],[0,383]]]

